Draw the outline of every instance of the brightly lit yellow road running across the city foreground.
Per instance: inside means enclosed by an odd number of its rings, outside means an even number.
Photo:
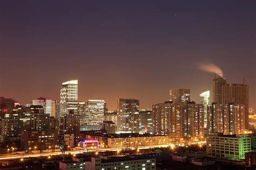
[[[186,144],[173,144],[173,145],[195,145],[195,144],[206,144],[206,141],[190,142]],[[168,147],[170,145],[155,145],[155,146],[140,146],[140,147],[130,147],[132,149],[149,149],[154,147]],[[122,151],[122,148],[93,148],[89,149],[87,152],[105,152],[105,151]],[[79,154],[84,151],[65,151],[65,154]],[[36,157],[49,157],[53,155],[60,155],[61,152],[51,152],[51,153],[35,153],[35,154],[0,154],[0,160],[11,160],[11,159],[25,159],[25,158],[36,158]]]

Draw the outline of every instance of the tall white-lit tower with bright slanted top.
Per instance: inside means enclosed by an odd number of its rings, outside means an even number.
[[[60,89],[60,116],[64,114],[77,114],[78,110],[78,80],[62,83]]]

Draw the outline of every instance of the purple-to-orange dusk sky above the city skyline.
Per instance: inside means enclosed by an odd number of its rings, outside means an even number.
[[[72,3],[71,3],[72,2]],[[1,1],[0,96],[59,99],[78,79],[79,100],[136,98],[140,108],[212,90],[213,63],[250,85],[256,107],[256,1]]]

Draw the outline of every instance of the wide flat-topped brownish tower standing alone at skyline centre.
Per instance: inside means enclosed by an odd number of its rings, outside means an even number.
[[[117,131],[124,133],[139,132],[139,100],[118,99]]]

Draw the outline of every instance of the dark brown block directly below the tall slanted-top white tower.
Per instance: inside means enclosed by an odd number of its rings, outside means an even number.
[[[80,115],[64,114],[60,117],[60,134],[74,135],[75,144],[78,143],[80,135]]]

